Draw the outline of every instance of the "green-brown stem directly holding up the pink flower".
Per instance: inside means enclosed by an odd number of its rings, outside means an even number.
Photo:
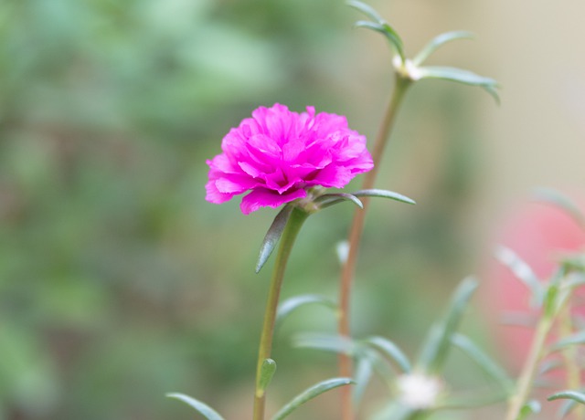
[[[304,210],[294,207],[293,212],[284,227],[281,236],[281,245],[278,250],[278,255],[274,262],[272,270],[271,285],[268,292],[268,299],[266,302],[266,310],[264,311],[264,323],[262,326],[260,347],[258,350],[258,364],[256,367],[256,388],[254,392],[254,420],[264,419],[264,407],[266,405],[266,390],[261,386],[261,368],[262,363],[271,357],[272,351],[272,336],[274,334],[274,321],[276,320],[276,310],[278,308],[278,301],[281,294],[282,279],[284,278],[284,269],[286,263],[291,255],[294,240],[303,226],[303,222],[309,213]]]

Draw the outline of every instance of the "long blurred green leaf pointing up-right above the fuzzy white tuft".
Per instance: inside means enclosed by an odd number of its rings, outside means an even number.
[[[474,278],[465,278],[453,293],[445,318],[431,328],[419,361],[427,373],[441,371],[452,345],[452,335],[459,327],[463,311],[475,289],[477,289],[477,281]]]

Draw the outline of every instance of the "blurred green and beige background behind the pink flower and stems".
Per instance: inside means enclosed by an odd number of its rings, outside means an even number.
[[[481,89],[420,82],[388,147],[378,186],[418,205],[371,206],[354,331],[414,353],[454,285],[481,275],[509,207],[537,185],[582,191],[585,5],[370,4],[410,55],[475,32],[431,63],[503,85],[497,107]],[[270,265],[253,268],[275,211],[208,204],[205,161],[277,101],[345,114],[373,139],[390,56],[352,29],[360,18],[341,0],[0,2],[0,420],[194,417],[167,392],[247,418]],[[283,298],[336,299],[353,210],[309,219]],[[472,310],[467,329],[497,354],[484,319]],[[334,355],[290,345],[309,327],[335,331],[331,313],[307,307],[282,327],[275,406],[336,374]],[[453,370],[453,388],[477,381]],[[325,395],[291,418],[335,419],[336,404]]]

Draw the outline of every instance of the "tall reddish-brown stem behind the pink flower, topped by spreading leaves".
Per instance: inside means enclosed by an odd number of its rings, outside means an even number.
[[[363,189],[370,189],[374,187],[376,177],[378,175],[379,163],[382,160],[382,155],[386,144],[388,143],[388,137],[394,121],[398,113],[404,94],[410,86],[410,79],[406,79],[403,76],[397,74],[396,83],[392,97],[388,103],[388,108],[384,115],[384,119],[380,125],[378,136],[374,144],[374,151],[372,152],[372,158],[374,160],[374,168],[366,173],[364,177]],[[357,248],[359,241],[364,230],[364,220],[366,218],[367,206],[369,199],[367,197],[362,198],[364,204],[363,210],[358,210],[354,214],[352,225],[349,230],[349,252],[347,255],[346,262],[341,272],[341,284],[339,291],[339,323],[338,331],[341,337],[349,338],[351,333],[349,329],[349,303],[351,296],[352,283],[354,273],[356,271],[356,260],[357,260]],[[346,354],[339,356],[339,373],[340,376],[350,377],[352,376],[352,361],[351,358]],[[341,388],[341,400],[342,400],[342,419],[352,420],[354,418],[354,411],[351,402],[351,389],[348,387]]]

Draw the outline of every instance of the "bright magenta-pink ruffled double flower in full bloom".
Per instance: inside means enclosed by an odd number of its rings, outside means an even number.
[[[244,194],[241,211],[278,207],[307,196],[316,185],[342,188],[374,167],[366,137],[347,127],[346,117],[292,112],[274,104],[252,112],[221,142],[209,165],[207,201],[220,204]]]

